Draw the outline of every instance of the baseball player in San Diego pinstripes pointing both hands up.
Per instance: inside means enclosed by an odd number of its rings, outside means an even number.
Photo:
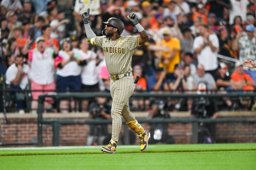
[[[122,117],[126,124],[140,137],[140,150],[145,151],[148,147],[148,133],[135,119],[130,111],[129,97],[135,88],[132,76],[132,51],[136,47],[148,41],[146,30],[139,24],[137,16],[131,12],[127,16],[138,29],[140,35],[121,36],[124,30],[124,23],[117,18],[109,18],[106,27],[102,31],[103,36],[96,36],[89,25],[89,12],[82,14],[88,42],[103,49],[106,66],[110,75],[110,93],[113,99],[111,108],[112,117],[112,138],[108,145],[102,146],[103,152],[115,153],[116,142],[118,141],[122,126]]]

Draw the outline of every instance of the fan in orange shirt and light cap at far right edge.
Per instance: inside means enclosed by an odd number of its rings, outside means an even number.
[[[238,61],[235,66],[236,70],[231,74],[231,79],[235,81],[236,87],[243,90],[254,90],[255,82],[249,74],[243,73],[243,63]]]

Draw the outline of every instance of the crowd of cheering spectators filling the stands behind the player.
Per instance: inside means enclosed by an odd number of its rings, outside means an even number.
[[[30,83],[32,108],[43,91],[109,91],[103,51],[87,43],[83,18],[71,10],[75,1],[63,3],[1,1],[0,82],[13,89]],[[256,62],[256,0],[100,1],[100,14],[89,18],[92,30],[101,36],[102,21],[116,17],[124,22],[122,35],[138,35],[130,8],[149,35],[132,56],[133,76],[140,76],[135,91],[184,92],[200,82],[220,93],[255,90],[256,68],[243,62]]]

